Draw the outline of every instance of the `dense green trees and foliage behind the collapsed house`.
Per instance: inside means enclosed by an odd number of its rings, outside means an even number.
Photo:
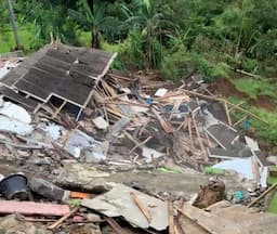
[[[121,68],[159,69],[179,79],[189,69],[207,78],[229,65],[274,76],[277,0],[21,0],[13,1],[25,50],[51,38],[94,48],[114,46]],[[1,40],[9,12],[0,6]],[[11,48],[10,48],[11,49]],[[126,63],[128,62],[128,63]],[[119,64],[120,66],[120,64]]]

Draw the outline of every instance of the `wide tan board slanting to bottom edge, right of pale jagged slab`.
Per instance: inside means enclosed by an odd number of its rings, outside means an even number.
[[[199,208],[184,204],[183,209],[175,207],[183,216],[203,227],[211,234],[245,234],[238,223],[230,222],[222,217],[206,212]]]

